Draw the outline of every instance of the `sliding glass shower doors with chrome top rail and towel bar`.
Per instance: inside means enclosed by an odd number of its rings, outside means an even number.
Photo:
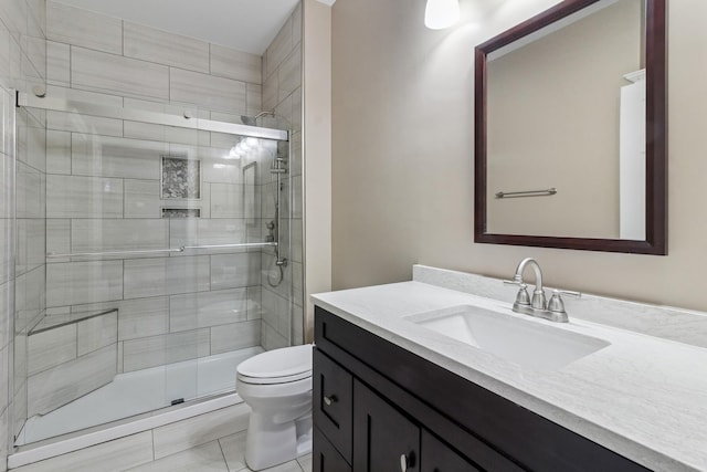
[[[17,300],[15,445],[232,392],[240,361],[302,343],[286,126],[23,93],[18,105],[18,132],[45,134],[46,172],[17,169],[19,260],[40,268],[28,273],[45,298]],[[32,182],[44,201],[22,195]]]

